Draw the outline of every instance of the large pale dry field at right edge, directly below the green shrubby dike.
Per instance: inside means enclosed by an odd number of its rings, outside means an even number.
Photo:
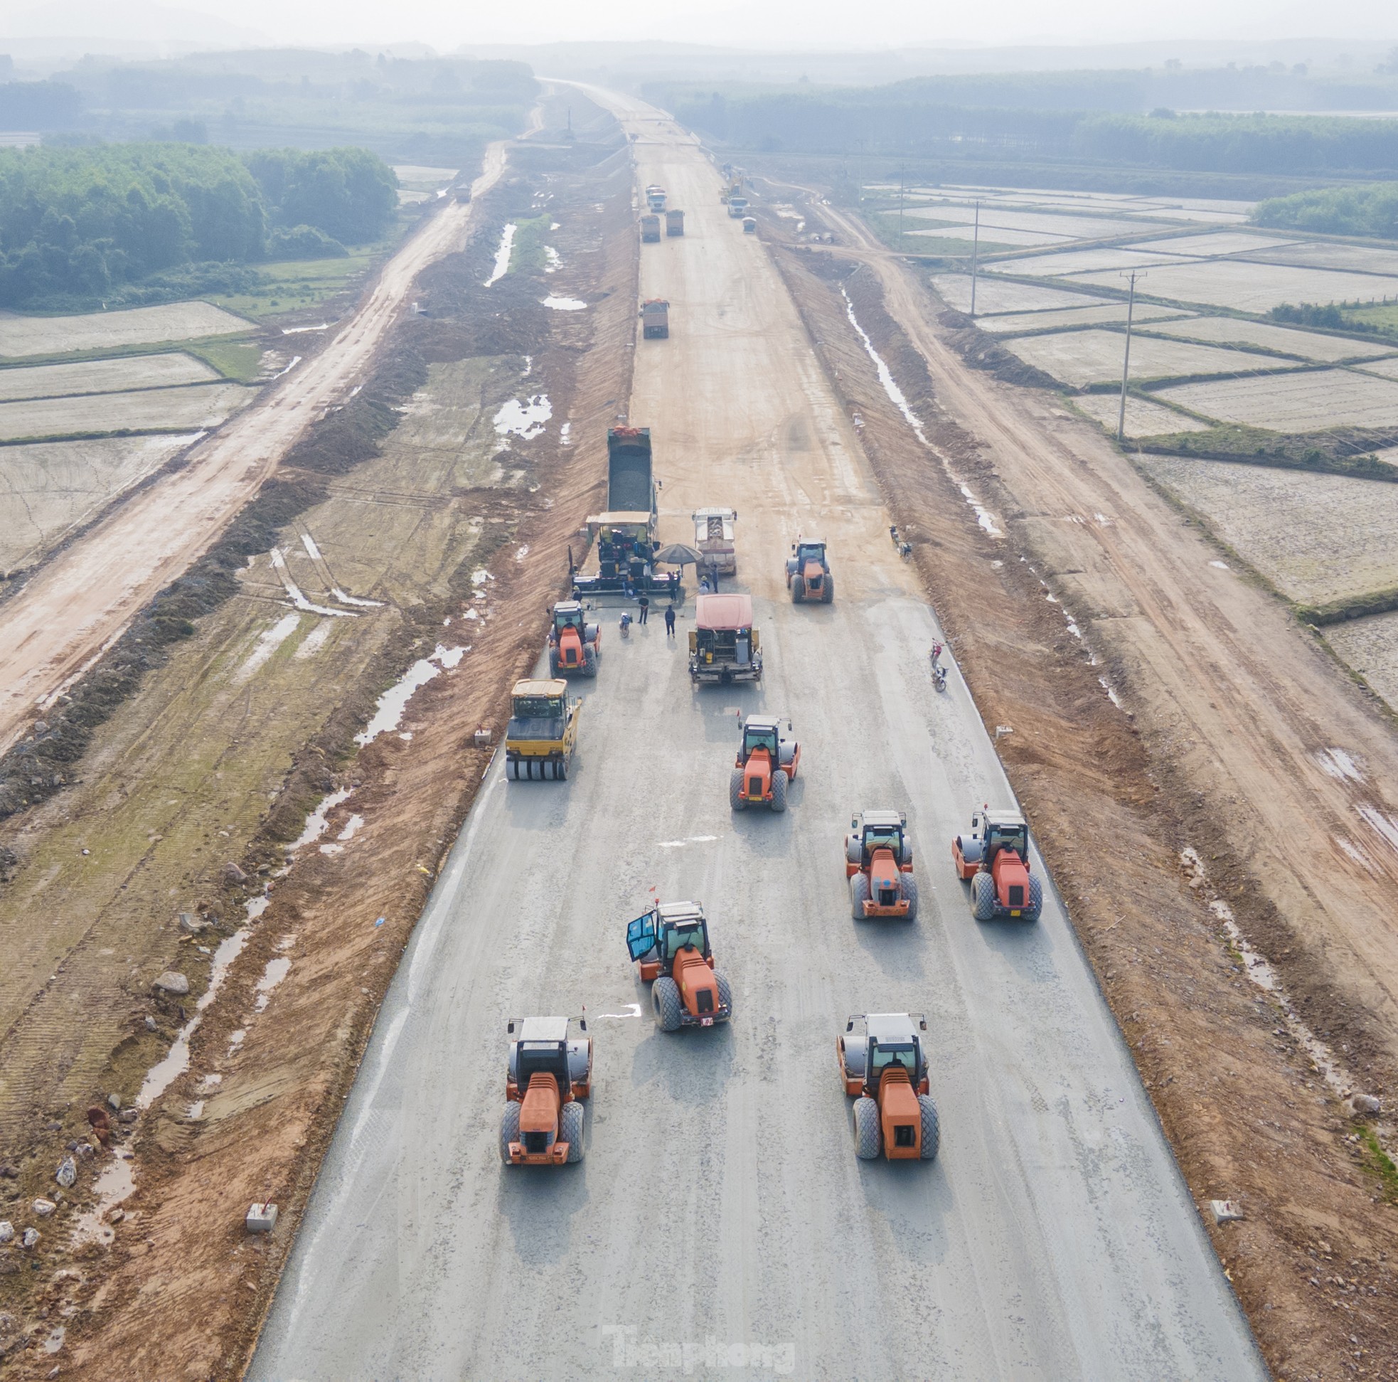
[[[1292,600],[1398,586],[1398,484],[1174,456],[1138,464]]]

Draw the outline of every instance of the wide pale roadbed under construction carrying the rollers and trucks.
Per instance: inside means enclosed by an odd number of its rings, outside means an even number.
[[[972,920],[951,836],[1011,800],[849,424],[702,152],[628,109],[637,186],[686,213],[643,248],[637,340],[661,536],[738,509],[761,690],[692,691],[654,617],[608,613],[568,783],[498,761],[394,979],[256,1360],[257,1379],[1265,1376],[1055,897]],[[833,607],[791,606],[797,530]],[[731,815],[738,712],[790,715],[784,815]],[[850,918],[853,810],[902,807],[916,923]],[[1042,864],[1040,864],[1042,867]],[[1050,890],[1051,892],[1051,890]],[[654,898],[707,908],[734,1020],[664,1035],[628,962]],[[587,1160],[502,1168],[506,1017],[582,1011]],[[935,1162],[860,1162],[835,1036],[924,1010]]]

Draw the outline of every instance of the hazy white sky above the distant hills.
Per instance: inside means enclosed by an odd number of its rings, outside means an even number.
[[[8,15],[7,13],[8,11]],[[1082,43],[1139,39],[1364,38],[1398,43],[1394,0],[204,0],[164,13],[143,0],[0,4],[0,39],[129,35],[201,28],[200,18],[280,43],[674,39],[734,48],[895,48],[939,43]],[[221,21],[221,22],[219,22]],[[169,34],[169,36],[183,36]],[[210,34],[190,34],[206,38]],[[231,35],[229,35],[231,36]]]

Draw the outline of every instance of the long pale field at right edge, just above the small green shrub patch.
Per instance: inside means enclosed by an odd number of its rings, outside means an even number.
[[[1117,274],[1086,273],[1076,283],[1120,288]],[[1398,295],[1398,278],[1258,264],[1248,259],[1208,259],[1160,264],[1137,283],[1137,294],[1169,302],[1201,302],[1241,312],[1267,312],[1282,302],[1355,302]]]

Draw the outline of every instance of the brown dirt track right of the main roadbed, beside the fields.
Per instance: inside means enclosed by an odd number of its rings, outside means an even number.
[[[914,271],[857,218],[822,215],[877,273],[937,399],[1022,506],[1047,575],[1155,755],[1219,835],[1201,838],[1248,939],[1363,1088],[1398,1081],[1398,739],[1265,589],[1156,494],[1102,434],[1040,390],[967,369]],[[1341,1052],[1341,1048],[1346,1048]]]

